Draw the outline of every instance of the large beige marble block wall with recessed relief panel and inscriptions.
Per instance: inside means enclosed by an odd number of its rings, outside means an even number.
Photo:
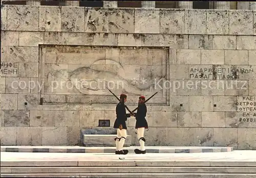
[[[131,110],[158,92],[147,145],[256,149],[255,11],[1,8],[2,145],[79,145],[81,128],[113,126],[103,80]]]

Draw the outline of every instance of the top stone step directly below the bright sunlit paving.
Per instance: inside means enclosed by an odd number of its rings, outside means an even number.
[[[114,156],[113,156],[114,157]],[[118,157],[117,157],[118,159]],[[40,160],[40,161],[1,161],[1,167],[256,167],[255,161],[71,161]]]

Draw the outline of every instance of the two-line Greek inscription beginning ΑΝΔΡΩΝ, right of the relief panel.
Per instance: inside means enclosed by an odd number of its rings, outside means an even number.
[[[221,67],[213,65],[211,67],[190,67],[190,79],[212,79],[212,80],[238,80],[240,73],[251,73],[253,69],[230,66]]]

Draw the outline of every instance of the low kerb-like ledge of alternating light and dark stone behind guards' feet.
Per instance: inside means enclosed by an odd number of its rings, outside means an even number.
[[[130,153],[139,146],[124,147]],[[3,152],[85,152],[113,153],[116,147],[83,147],[83,146],[1,146]],[[193,153],[193,152],[230,152],[232,147],[208,146],[146,146],[147,153]]]

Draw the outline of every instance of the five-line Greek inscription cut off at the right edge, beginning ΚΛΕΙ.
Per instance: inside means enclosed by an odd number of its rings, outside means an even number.
[[[240,122],[256,122],[256,96],[242,96],[237,103],[237,111],[243,112]]]

